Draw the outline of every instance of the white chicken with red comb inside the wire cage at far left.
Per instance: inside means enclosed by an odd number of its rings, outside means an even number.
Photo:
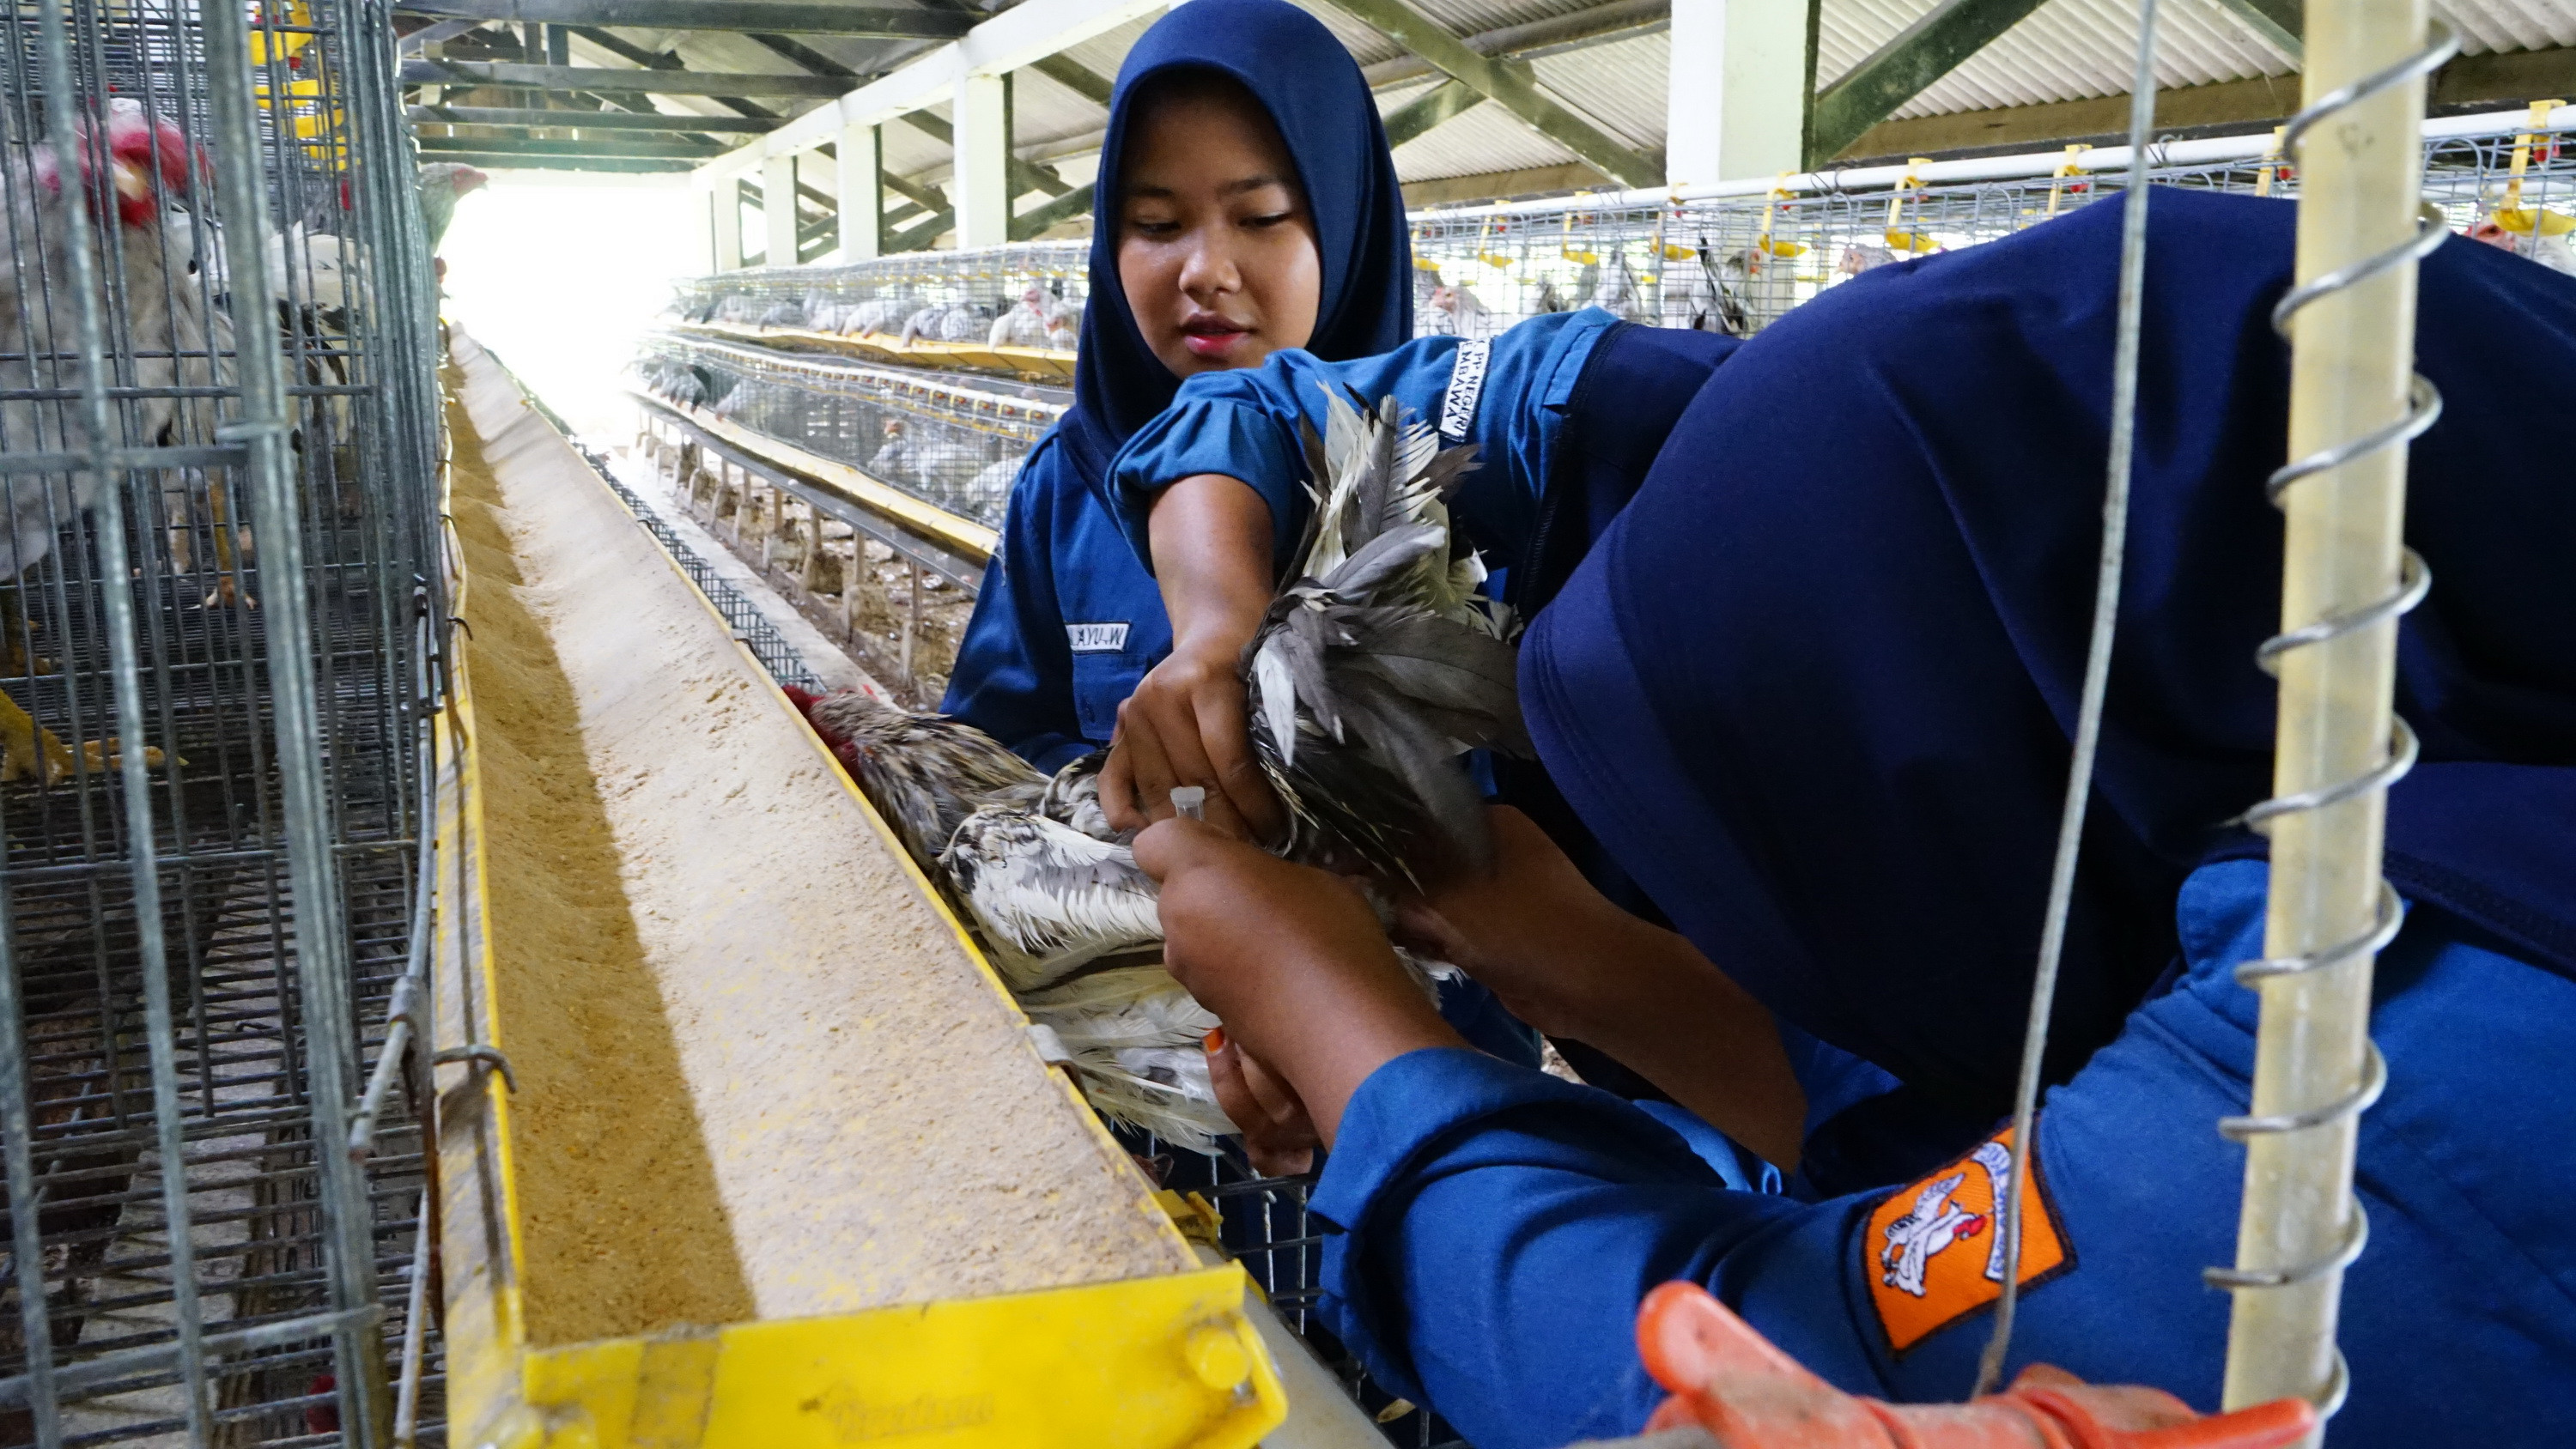
[[[134,103],[111,106],[103,121],[95,113],[80,121],[80,175],[70,188],[90,201],[90,226],[113,275],[98,306],[108,317],[121,314],[124,322],[121,342],[131,373],[118,383],[147,394],[211,389],[219,381],[204,288],[185,275],[183,263],[173,265],[170,237],[162,232],[162,196],[188,188],[193,152],[185,131]],[[206,399],[116,401],[108,407],[108,438],[90,438],[77,401],[26,401],[33,389],[82,386],[77,304],[64,296],[75,286],[75,226],[54,144],[39,142],[26,160],[5,154],[0,167],[5,167],[0,190],[5,190],[8,234],[15,242],[10,255],[0,257],[0,396],[18,394],[13,401],[0,401],[0,430],[15,448],[31,453],[77,453],[98,443],[111,448],[209,443],[211,432],[191,438],[191,427],[206,422],[201,417],[211,407]],[[124,306],[116,309],[111,299],[121,299]],[[36,358],[46,358],[46,365],[39,368]],[[57,530],[88,512],[100,486],[106,476],[95,471],[13,481],[8,533],[0,538],[0,579],[15,582],[41,564],[54,551]],[[113,764],[116,741],[82,744],[80,762],[90,770]],[[162,757],[147,749],[144,762],[160,764]],[[0,780],[41,777],[52,785],[72,772],[72,749],[54,731],[39,728],[15,700],[0,695]]]

